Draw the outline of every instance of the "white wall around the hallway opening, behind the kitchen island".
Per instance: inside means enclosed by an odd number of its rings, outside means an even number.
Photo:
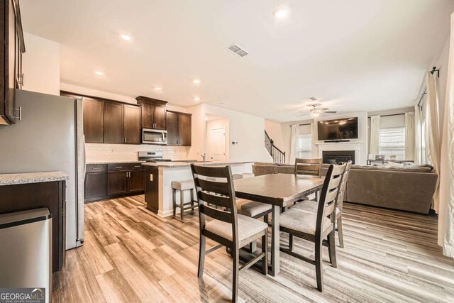
[[[209,104],[199,104],[188,109],[192,113],[192,148],[188,158],[199,159],[206,153],[206,114],[220,116],[229,122],[230,162],[272,161],[265,149],[265,119],[223,109]],[[232,141],[238,144],[232,145]]]

